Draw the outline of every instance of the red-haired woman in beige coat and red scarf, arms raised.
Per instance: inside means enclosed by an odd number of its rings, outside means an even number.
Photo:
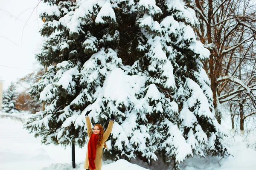
[[[112,127],[114,123],[113,121],[115,117],[113,114],[111,114],[111,119],[108,123],[108,128],[105,131],[105,133],[103,133],[103,127],[102,125],[99,125],[99,124],[96,124],[92,130],[90,118],[88,116],[90,111],[87,111],[85,114],[89,142],[88,142],[87,153],[86,153],[86,158],[84,162],[84,169],[101,170],[102,149],[103,149],[103,146],[106,147],[105,142],[112,131]]]

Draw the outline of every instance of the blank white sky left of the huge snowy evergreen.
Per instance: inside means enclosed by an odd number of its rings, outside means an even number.
[[[35,53],[41,48],[43,37],[38,31],[43,22],[38,15],[47,6],[38,3],[39,0],[0,0],[0,80],[5,81],[4,90],[40,67]]]

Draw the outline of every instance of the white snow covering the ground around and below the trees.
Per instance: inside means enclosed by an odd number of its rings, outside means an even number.
[[[8,114],[7,114],[8,115]],[[42,145],[23,129],[27,114],[6,116],[0,112],[0,170],[73,170],[71,148],[55,145]],[[219,157],[189,158],[180,164],[183,170],[255,170],[256,151],[246,148],[242,136],[236,136],[235,145],[230,147],[233,156],[227,159]],[[234,142],[233,138],[227,139]],[[84,170],[86,148],[76,147],[76,169]],[[139,166],[140,165],[140,166]],[[157,161],[148,166],[140,161],[129,163],[125,160],[105,161],[102,170],[168,170],[171,167]]]

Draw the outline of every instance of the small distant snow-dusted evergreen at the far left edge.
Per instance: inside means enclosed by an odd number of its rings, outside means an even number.
[[[7,89],[6,93],[3,94],[2,111],[5,113],[13,113],[17,111],[16,108],[16,88],[13,82]]]

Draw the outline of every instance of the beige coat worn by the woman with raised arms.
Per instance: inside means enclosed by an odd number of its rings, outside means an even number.
[[[91,127],[90,117],[86,116],[85,119],[86,119],[87,133],[88,133],[89,140],[90,140],[90,136],[93,134],[93,129]],[[112,131],[113,123],[114,123],[113,121],[109,121],[109,123],[108,123],[108,128],[105,131],[105,133],[103,134],[103,144],[108,139],[108,136],[110,135],[110,133]],[[97,149],[96,149],[96,159],[94,160],[95,167],[96,167],[95,170],[101,170],[101,167],[102,167],[103,144],[100,147],[97,147]],[[87,145],[87,147],[88,147],[88,145]],[[86,157],[85,157],[85,162],[84,162],[84,169],[90,170],[87,151],[86,151]]]

